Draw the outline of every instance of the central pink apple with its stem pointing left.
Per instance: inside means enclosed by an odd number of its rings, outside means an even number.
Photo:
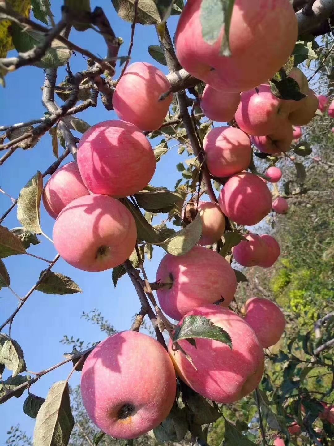
[[[177,321],[194,307],[221,299],[223,306],[229,306],[237,288],[235,272],[227,260],[203,246],[194,246],[184,256],[166,254],[156,281],[172,284],[158,289],[157,296],[162,310]]]

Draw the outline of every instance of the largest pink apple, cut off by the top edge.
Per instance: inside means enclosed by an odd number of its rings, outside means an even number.
[[[177,24],[177,59],[190,74],[217,90],[240,92],[271,78],[297,40],[288,0],[236,0],[229,34],[231,57],[222,56],[224,30],[216,42],[202,37],[201,0],[190,0]]]

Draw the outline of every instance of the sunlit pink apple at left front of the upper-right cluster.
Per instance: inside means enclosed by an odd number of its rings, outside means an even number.
[[[235,121],[244,132],[253,136],[264,136],[275,132],[289,115],[285,101],[276,98],[268,84],[257,90],[243,91],[235,113]]]

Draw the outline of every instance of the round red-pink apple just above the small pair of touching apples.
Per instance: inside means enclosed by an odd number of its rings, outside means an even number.
[[[241,172],[227,180],[219,194],[219,206],[235,223],[252,226],[270,212],[272,195],[260,177]]]

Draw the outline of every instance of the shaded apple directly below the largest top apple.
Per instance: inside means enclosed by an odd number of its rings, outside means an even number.
[[[239,103],[240,93],[218,91],[206,84],[202,94],[201,108],[207,118],[218,122],[228,122],[233,119]]]

